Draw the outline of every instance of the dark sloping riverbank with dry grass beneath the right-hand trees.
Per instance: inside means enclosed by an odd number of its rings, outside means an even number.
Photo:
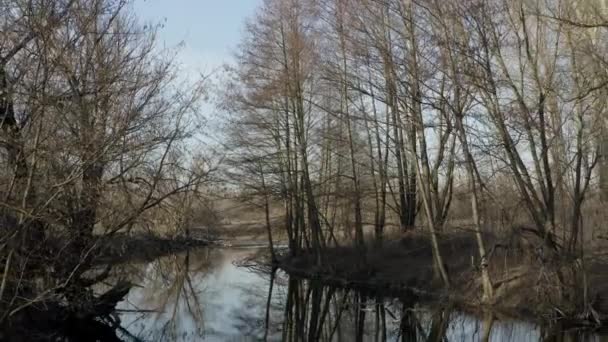
[[[522,246],[492,250],[494,299],[487,303],[482,301],[474,241],[472,233],[442,237],[440,250],[450,276],[449,289],[435,276],[431,244],[423,234],[385,241],[381,247],[368,246],[364,253],[354,247],[329,248],[323,252],[322,266],[317,266],[313,255],[306,252],[282,256],[277,266],[290,275],[319,279],[332,286],[381,296],[448,301],[469,312],[492,310],[510,317],[559,321],[577,327],[608,323],[608,291],[604,285],[607,264],[586,266],[589,287],[587,304],[583,305],[578,296],[583,289],[577,286],[582,282],[571,267],[534,260],[536,256]],[[561,288],[556,285],[558,277]]]

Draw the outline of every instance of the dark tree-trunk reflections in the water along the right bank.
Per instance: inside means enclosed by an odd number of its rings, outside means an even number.
[[[275,324],[282,341],[602,341],[591,333],[497,320],[491,313],[478,318],[449,305],[374,298],[299,279],[289,280],[284,317]]]

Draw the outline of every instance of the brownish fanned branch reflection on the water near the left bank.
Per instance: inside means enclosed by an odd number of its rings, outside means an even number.
[[[125,337],[146,341],[204,337],[202,294],[205,277],[215,265],[211,250],[204,249],[122,267],[119,274],[139,284],[118,307],[119,312],[132,313],[123,319]]]

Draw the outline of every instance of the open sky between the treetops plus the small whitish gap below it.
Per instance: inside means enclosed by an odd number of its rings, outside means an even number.
[[[159,45],[181,46],[176,61],[182,80],[196,81],[201,75],[221,74],[230,63],[245,30],[245,21],[255,15],[263,0],[133,0],[143,24],[162,24]],[[213,100],[201,104],[200,113],[207,129],[194,135],[189,148],[199,144],[221,145],[223,116]],[[220,126],[217,126],[220,125]]]

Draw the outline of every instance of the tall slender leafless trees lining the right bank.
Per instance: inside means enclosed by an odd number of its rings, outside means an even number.
[[[265,0],[226,74],[228,172],[271,244],[280,203],[291,254],[317,265],[345,237],[364,256],[390,225],[422,225],[449,286],[438,240],[461,218],[490,300],[484,234],[523,225],[582,257],[586,208],[605,206],[607,8]]]

